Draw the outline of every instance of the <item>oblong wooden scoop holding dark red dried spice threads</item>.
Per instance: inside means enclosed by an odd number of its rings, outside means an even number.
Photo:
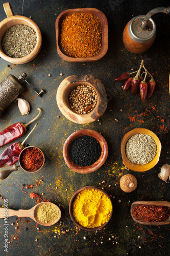
[[[131,205],[132,219],[142,225],[170,224],[170,203],[167,201],[136,201]]]

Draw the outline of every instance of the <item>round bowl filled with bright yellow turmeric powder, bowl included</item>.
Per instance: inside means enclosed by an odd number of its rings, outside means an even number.
[[[85,186],[76,191],[69,203],[71,220],[81,229],[95,231],[105,227],[112,217],[112,202],[103,189]]]

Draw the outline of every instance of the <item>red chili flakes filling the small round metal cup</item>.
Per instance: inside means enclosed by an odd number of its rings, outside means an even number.
[[[37,170],[39,169],[44,161],[42,152],[36,147],[27,148],[23,153],[21,158],[21,163],[23,167],[28,170]]]

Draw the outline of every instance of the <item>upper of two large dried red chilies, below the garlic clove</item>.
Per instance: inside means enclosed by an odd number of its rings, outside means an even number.
[[[15,139],[25,134],[27,131],[28,125],[39,117],[41,113],[41,109],[38,108],[38,111],[39,111],[39,114],[30,122],[26,124],[23,124],[21,122],[14,123],[11,126],[7,127],[5,130],[3,130],[2,132],[0,132],[0,146],[4,146],[7,143],[10,143],[11,141],[14,141]]]

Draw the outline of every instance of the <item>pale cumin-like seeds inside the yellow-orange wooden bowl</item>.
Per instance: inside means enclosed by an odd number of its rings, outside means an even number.
[[[127,141],[125,152],[129,161],[143,165],[154,159],[157,153],[157,146],[152,136],[138,133]]]

